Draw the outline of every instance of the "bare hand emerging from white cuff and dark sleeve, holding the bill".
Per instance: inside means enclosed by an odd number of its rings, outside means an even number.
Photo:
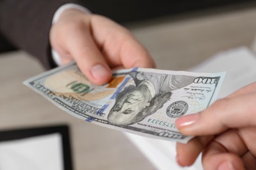
[[[127,29],[103,16],[66,10],[53,24],[50,40],[62,63],[75,60],[94,84],[108,82],[112,69],[156,67]]]

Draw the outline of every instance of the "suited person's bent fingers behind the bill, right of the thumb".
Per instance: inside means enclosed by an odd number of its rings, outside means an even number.
[[[121,25],[94,15],[91,28],[95,42],[101,46],[110,67],[156,67],[147,50]]]

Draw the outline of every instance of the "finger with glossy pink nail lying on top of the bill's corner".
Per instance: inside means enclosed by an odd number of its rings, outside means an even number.
[[[256,93],[221,99],[198,114],[183,116],[176,126],[184,135],[214,135],[228,128],[256,126]]]

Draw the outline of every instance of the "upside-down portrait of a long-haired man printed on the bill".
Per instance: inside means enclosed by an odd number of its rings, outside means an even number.
[[[194,76],[131,72],[135,85],[129,85],[116,96],[108,122],[127,126],[154,114],[171,98],[172,91],[194,82]]]

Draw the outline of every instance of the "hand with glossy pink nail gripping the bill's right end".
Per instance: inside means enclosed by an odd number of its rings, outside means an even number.
[[[179,118],[176,126],[184,135],[197,136],[177,144],[179,165],[192,165],[203,151],[204,169],[256,169],[256,82]]]

